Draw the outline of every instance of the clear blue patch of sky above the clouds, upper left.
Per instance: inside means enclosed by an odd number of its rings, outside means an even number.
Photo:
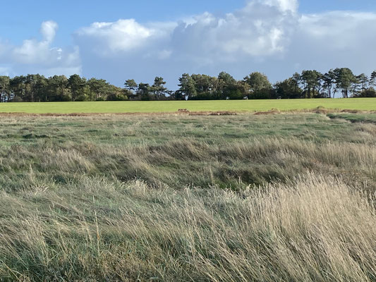
[[[44,20],[54,20],[59,23],[59,42],[71,41],[71,33],[78,27],[90,25],[98,21],[116,21],[121,18],[135,18],[141,23],[150,21],[179,20],[186,16],[210,11],[223,14],[241,8],[243,0],[21,0],[2,4],[0,36],[11,38],[14,42],[38,36],[40,23]],[[57,39],[57,38],[56,38]]]

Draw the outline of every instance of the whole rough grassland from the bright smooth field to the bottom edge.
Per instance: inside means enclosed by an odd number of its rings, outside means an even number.
[[[0,281],[376,281],[376,114],[1,121]]]

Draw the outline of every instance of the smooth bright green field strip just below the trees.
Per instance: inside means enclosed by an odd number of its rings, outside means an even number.
[[[232,101],[161,101],[161,102],[48,102],[4,103],[0,112],[29,114],[72,113],[154,113],[188,111],[269,111],[278,109],[301,110],[323,106],[327,109],[375,111],[376,98],[358,99],[284,99],[284,100],[232,100]]]

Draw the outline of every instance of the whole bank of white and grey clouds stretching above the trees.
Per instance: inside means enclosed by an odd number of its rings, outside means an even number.
[[[376,68],[376,13],[302,14],[297,0],[251,0],[223,16],[206,12],[178,22],[92,23],[73,33],[70,49],[52,47],[56,30],[56,23],[44,22],[41,41],[25,40],[18,47],[0,41],[0,59],[7,58],[0,72],[9,66],[82,69],[87,77],[117,85],[162,75],[174,88],[181,73],[227,71],[241,79],[262,71],[275,82],[308,68],[346,66],[356,73]]]

